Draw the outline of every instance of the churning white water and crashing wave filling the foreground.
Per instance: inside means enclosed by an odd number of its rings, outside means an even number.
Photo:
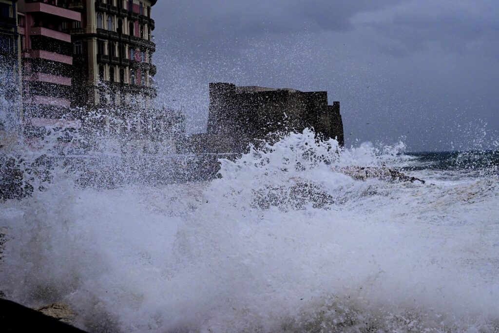
[[[1,203],[6,297],[65,302],[91,332],[490,332],[497,173],[355,180],[417,159],[292,134],[222,178],[45,191]]]

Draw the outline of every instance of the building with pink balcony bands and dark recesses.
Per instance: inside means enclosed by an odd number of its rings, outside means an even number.
[[[81,21],[66,0],[19,0],[25,134],[55,125],[69,112],[73,52],[66,27]]]

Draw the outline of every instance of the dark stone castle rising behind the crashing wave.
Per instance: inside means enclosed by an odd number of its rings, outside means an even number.
[[[193,143],[198,152],[241,153],[268,133],[307,127],[344,145],[340,103],[328,105],[326,91],[211,83],[207,135],[193,138]]]

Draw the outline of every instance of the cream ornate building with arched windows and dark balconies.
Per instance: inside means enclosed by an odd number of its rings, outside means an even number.
[[[73,43],[74,107],[151,107],[156,0],[70,0],[82,21],[68,26]]]

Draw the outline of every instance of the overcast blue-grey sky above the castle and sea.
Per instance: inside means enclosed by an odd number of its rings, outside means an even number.
[[[208,83],[231,82],[328,91],[347,146],[498,148],[498,0],[159,0],[152,15],[160,99],[192,132]]]

